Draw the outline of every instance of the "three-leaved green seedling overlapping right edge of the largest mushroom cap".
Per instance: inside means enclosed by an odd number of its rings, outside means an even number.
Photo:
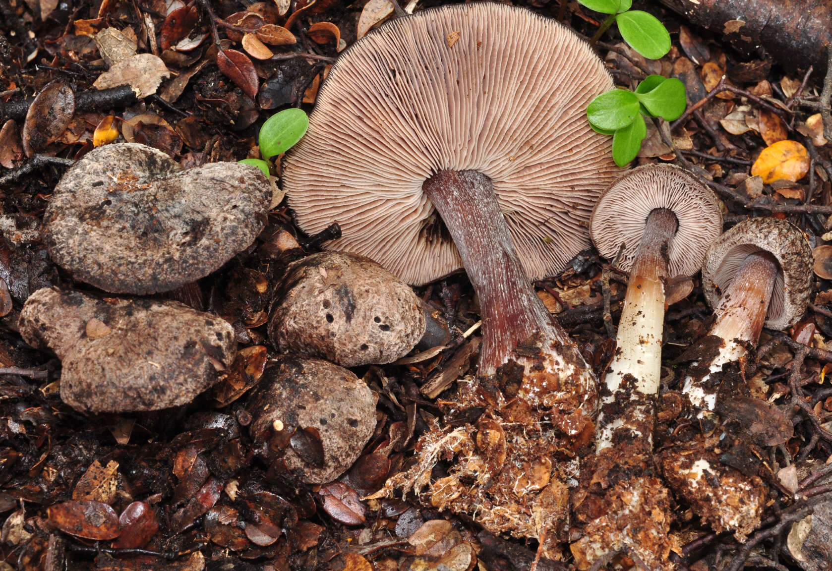
[[[685,111],[685,86],[675,77],[646,76],[636,91],[613,89],[587,107],[593,130],[612,135],[612,159],[624,166],[636,158],[647,134],[644,117],[673,121]]]

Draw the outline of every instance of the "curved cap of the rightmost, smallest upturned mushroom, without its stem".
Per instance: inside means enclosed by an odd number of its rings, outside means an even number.
[[[779,266],[765,327],[784,329],[805,313],[812,292],[812,250],[794,224],[775,218],[747,219],[711,244],[702,264],[702,288],[711,308],[730,285],[743,260],[765,251]]]

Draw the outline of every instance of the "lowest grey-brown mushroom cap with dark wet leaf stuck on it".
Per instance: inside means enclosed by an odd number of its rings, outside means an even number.
[[[319,359],[283,357],[267,367],[249,403],[250,433],[269,460],[323,484],[359,457],[375,428],[378,396],[358,377]]]

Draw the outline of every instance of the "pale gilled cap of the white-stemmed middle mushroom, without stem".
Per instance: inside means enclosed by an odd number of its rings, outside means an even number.
[[[669,209],[679,224],[668,249],[668,278],[698,272],[708,246],[722,231],[720,204],[694,175],[675,165],[643,165],[604,191],[589,223],[592,242],[604,258],[628,270],[636,258],[647,217]],[[623,249],[622,249],[623,244]]]

